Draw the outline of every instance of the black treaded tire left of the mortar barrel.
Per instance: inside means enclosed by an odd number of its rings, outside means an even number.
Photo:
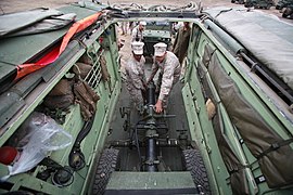
[[[116,170],[119,151],[115,148],[106,148],[103,151],[92,185],[92,194],[104,194],[109,179]]]

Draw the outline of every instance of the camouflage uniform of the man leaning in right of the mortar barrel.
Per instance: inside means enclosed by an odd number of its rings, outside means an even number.
[[[166,107],[171,88],[179,80],[181,66],[178,57],[167,51],[162,63],[155,62],[152,67],[152,75],[160,69],[157,86],[160,89],[158,100],[163,101],[163,106]]]

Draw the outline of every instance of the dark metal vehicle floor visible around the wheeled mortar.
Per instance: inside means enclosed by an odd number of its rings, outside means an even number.
[[[145,65],[145,75],[146,78],[150,75],[151,70],[151,64]],[[167,107],[167,114],[168,115],[176,115],[175,118],[167,118],[165,119],[166,125],[168,127],[167,133],[162,133],[160,138],[168,138],[169,140],[177,139],[180,133],[184,133],[186,136],[190,138],[189,129],[188,129],[188,121],[187,121],[187,115],[184,110],[184,105],[182,101],[181,95],[181,88],[182,83],[178,82],[175,84],[170,98],[169,98],[169,104]],[[106,140],[106,146],[110,146],[111,143],[114,141],[127,141],[129,140],[129,132],[125,131],[123,128],[123,125],[125,122],[125,118],[122,118],[119,108],[120,107],[129,107],[129,93],[126,89],[125,83],[123,82],[122,93],[118,100],[118,103],[116,105],[116,110],[114,112],[114,117],[111,122],[110,127],[110,134]],[[131,126],[135,127],[135,125],[141,119],[142,117],[139,116],[139,113],[135,109],[131,109],[130,114],[130,120]],[[143,135],[144,131],[140,130],[138,131],[139,140],[143,142]],[[138,150],[136,146],[132,146],[131,148],[127,147],[119,147],[119,168],[122,171],[138,171],[140,169],[139,166],[139,155]],[[141,157],[144,156],[145,147],[140,146],[140,153]],[[170,146],[164,146],[157,150],[158,159],[162,161],[160,164],[158,169],[161,171],[180,171],[182,170],[182,160],[181,160],[181,150],[179,147],[170,147]]]

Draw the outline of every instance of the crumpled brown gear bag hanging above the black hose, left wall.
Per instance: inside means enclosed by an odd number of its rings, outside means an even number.
[[[91,87],[81,80],[74,83],[75,102],[80,105],[84,120],[88,121],[95,113],[95,104],[100,96],[91,89]]]

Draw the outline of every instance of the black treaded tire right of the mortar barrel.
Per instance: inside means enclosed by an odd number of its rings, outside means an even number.
[[[195,186],[201,185],[201,190],[205,194],[212,194],[206,169],[200,152],[196,150],[184,150],[182,154],[183,165],[186,166],[186,170],[190,171]]]

